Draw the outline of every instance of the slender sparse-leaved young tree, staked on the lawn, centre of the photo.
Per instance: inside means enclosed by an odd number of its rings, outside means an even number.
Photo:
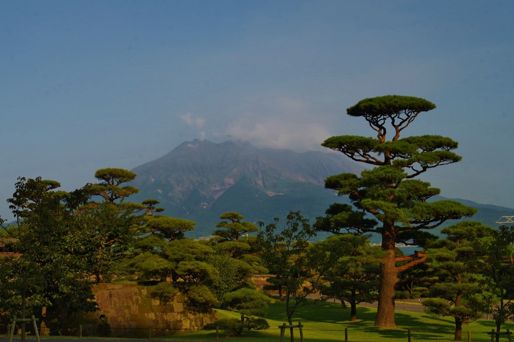
[[[307,305],[307,296],[318,291],[322,277],[330,265],[339,259],[340,252],[337,244],[329,245],[332,251],[327,250],[325,245],[309,246],[308,240],[316,236],[316,231],[300,212],[287,215],[280,234],[276,233],[279,219],[275,221],[259,233],[258,239],[263,261],[276,279],[280,279],[277,283],[283,288],[287,320],[292,325],[292,315],[297,308]],[[263,225],[262,222],[260,224]],[[310,287],[304,286],[306,281],[310,282]],[[291,339],[292,336],[291,329]]]

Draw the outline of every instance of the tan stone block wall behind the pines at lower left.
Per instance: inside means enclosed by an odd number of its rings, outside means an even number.
[[[214,311],[210,314],[186,311],[182,295],[161,305],[157,299],[150,298],[148,288],[137,283],[100,283],[93,287],[93,293],[100,311],[89,315],[90,325],[98,326],[105,321],[112,336],[145,337],[148,327],[152,327],[154,336],[187,333],[201,329],[217,318]]]

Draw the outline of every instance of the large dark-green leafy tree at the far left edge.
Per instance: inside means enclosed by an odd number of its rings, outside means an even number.
[[[15,254],[0,258],[2,309],[21,318],[30,313],[41,318],[46,307],[47,317],[56,319],[59,313],[97,310],[87,282],[87,242],[77,220],[77,208],[89,198],[88,186],[69,194],[55,191],[58,182],[41,178],[19,178],[15,186],[8,202],[17,224],[5,229],[11,238],[7,247]]]

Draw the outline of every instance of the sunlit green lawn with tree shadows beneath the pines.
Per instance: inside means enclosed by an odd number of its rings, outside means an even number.
[[[266,319],[270,329],[264,331],[244,331],[241,337],[223,335],[220,341],[273,341],[280,340],[279,325],[287,322],[285,316],[284,303],[274,301],[270,304]],[[220,317],[240,317],[237,312],[216,310]],[[301,321],[304,325],[305,342],[321,341],[344,341],[344,328],[348,328],[348,341],[351,342],[380,342],[380,341],[407,341],[407,329],[411,329],[412,341],[450,341],[453,340],[455,325],[453,319],[432,317],[424,313],[415,312],[396,312],[396,324],[398,328],[376,328],[373,326],[375,321],[376,309],[358,307],[358,321],[350,322],[350,309],[342,309],[338,303],[324,302],[300,308],[293,316],[293,323]],[[492,320],[478,320],[469,326],[463,327],[463,340],[467,341],[467,331],[471,331],[471,340],[490,341],[490,335],[486,332],[494,328]],[[514,324],[508,323],[503,329],[514,330]],[[298,331],[298,329],[296,329]],[[286,330],[286,340],[289,334]],[[159,338],[160,339],[160,338]],[[176,335],[162,337],[162,339],[177,339],[188,341],[214,341],[215,332],[199,331],[187,335]],[[295,339],[300,341],[300,335],[296,333]],[[500,340],[508,340],[505,335]]]

